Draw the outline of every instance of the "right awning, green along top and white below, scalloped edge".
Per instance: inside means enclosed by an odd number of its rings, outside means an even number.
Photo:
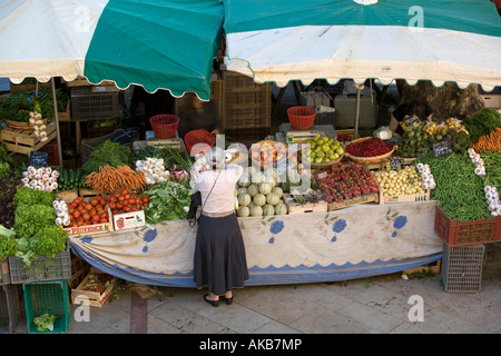
[[[488,0],[224,0],[224,6],[227,69],[256,82],[376,78],[479,83],[484,90],[501,85],[501,17]]]

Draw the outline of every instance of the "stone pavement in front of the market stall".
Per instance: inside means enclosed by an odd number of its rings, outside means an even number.
[[[501,251],[501,249],[499,250]],[[484,267],[479,293],[446,293],[440,275],[401,274],[341,283],[256,286],[215,308],[205,290],[127,285],[68,334],[501,334],[501,266]],[[21,313],[24,316],[23,313]],[[27,333],[26,318],[14,333]]]

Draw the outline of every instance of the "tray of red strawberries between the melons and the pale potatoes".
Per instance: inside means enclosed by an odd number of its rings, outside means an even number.
[[[316,182],[327,202],[341,202],[380,190],[376,178],[357,162],[333,165],[324,174],[317,175]]]

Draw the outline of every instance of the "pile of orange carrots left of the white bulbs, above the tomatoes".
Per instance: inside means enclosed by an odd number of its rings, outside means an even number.
[[[87,176],[85,185],[97,194],[112,194],[122,190],[138,190],[146,186],[145,176],[129,166],[100,166],[98,171]]]

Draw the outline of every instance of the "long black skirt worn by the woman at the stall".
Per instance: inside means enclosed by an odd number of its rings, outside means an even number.
[[[248,279],[244,239],[235,214],[212,218],[202,215],[195,245],[194,280],[197,288],[224,295]]]

